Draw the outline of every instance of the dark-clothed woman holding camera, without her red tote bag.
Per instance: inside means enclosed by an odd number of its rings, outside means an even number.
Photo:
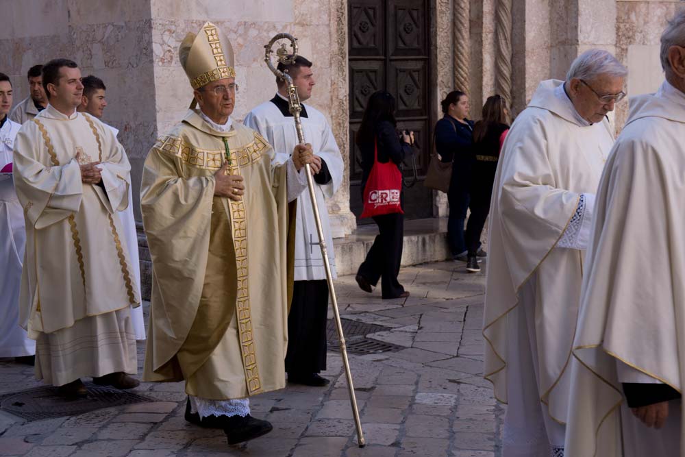
[[[412,153],[413,133],[397,134],[395,127],[395,98],[385,90],[379,90],[369,97],[362,124],[357,132],[356,143],[362,153],[362,197],[366,180],[369,179],[373,166],[374,145],[378,147],[378,162],[392,160],[399,164]],[[403,195],[400,194],[403,201]],[[373,217],[378,225],[379,234],[366,260],[359,266],[356,280],[362,291],[371,292],[381,279],[381,291],[384,299],[408,297],[397,281],[399,262],[402,258],[402,236],[404,232],[404,215],[400,213],[383,214]]]

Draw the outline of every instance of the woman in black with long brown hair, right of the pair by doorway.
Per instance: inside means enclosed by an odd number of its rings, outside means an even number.
[[[473,127],[473,171],[471,173],[471,216],[466,225],[466,271],[480,271],[477,251],[480,234],[490,212],[490,198],[497,173],[499,150],[509,131],[509,112],[506,102],[500,95],[488,97],[483,106],[483,119]]]

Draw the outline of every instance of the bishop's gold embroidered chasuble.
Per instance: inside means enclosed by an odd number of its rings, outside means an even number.
[[[230,157],[242,201],[214,197]],[[189,110],[145,160],[141,208],[153,267],[147,381],[234,399],[285,386],[292,232],[286,166],[257,132],[218,132]],[[282,165],[282,164],[280,164]],[[290,254],[290,255],[288,255]]]

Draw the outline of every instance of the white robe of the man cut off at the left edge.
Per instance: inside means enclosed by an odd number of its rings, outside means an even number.
[[[21,125],[7,119],[0,128],[0,169],[12,163],[14,138]],[[26,232],[24,211],[14,191],[12,174],[0,175],[0,357],[36,354],[36,342],[19,326],[19,284]]]

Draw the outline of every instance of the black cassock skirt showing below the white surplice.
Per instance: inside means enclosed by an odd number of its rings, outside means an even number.
[[[286,372],[307,375],[326,369],[326,280],[295,281],[288,314]]]

